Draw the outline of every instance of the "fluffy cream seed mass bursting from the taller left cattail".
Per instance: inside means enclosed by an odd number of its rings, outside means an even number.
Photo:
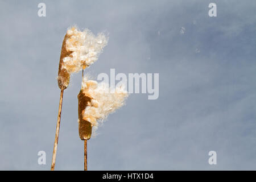
[[[71,55],[63,58],[62,67],[70,73],[77,73],[93,64],[102,49],[108,44],[108,37],[104,33],[95,36],[90,30],[77,30],[76,27],[67,31],[66,49],[71,51]]]

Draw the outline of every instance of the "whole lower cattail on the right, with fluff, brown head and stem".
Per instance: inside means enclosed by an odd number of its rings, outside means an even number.
[[[79,137],[84,140],[84,170],[87,170],[87,140],[92,128],[97,129],[98,122],[104,121],[110,113],[123,106],[128,93],[123,86],[109,88],[108,84],[82,79],[79,100]]]

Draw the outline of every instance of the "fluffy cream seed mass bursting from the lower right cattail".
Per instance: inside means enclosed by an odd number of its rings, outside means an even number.
[[[124,87],[111,89],[108,84],[97,81],[82,80],[82,92],[92,98],[89,106],[83,111],[83,119],[89,121],[92,126],[98,126],[98,122],[103,121],[110,113],[123,106],[128,96]]]

